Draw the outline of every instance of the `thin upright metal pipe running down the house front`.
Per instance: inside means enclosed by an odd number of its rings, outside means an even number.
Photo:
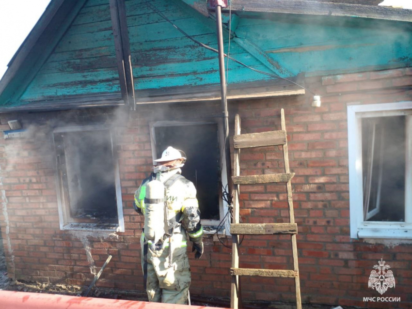
[[[222,95],[222,113],[223,113],[223,134],[224,134],[224,153],[226,160],[227,187],[229,195],[233,193],[232,182],[232,163],[230,160],[230,144],[229,144],[229,117],[227,112],[226,100],[226,76],[224,72],[224,50],[223,50],[223,31],[222,31],[222,6],[216,6],[216,32],[218,34],[218,50],[219,50],[219,73],[221,80],[221,95]]]

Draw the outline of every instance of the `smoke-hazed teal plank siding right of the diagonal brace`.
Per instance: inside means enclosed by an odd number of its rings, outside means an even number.
[[[236,34],[294,75],[412,62],[409,23],[290,15],[274,19],[241,18]]]

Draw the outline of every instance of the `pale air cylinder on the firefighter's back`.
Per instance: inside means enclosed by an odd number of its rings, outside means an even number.
[[[164,234],[164,185],[161,182],[152,180],[147,184],[146,201],[144,236],[157,243]]]

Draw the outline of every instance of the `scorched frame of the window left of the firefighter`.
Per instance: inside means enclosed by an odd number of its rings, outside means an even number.
[[[64,204],[62,199],[61,186],[62,181],[59,176],[59,162],[58,154],[55,142],[55,134],[58,133],[71,133],[71,132],[84,132],[84,131],[108,131],[110,133],[110,141],[112,144],[113,164],[114,164],[114,185],[116,194],[116,210],[117,210],[117,223],[108,225],[106,223],[88,223],[88,222],[71,222],[71,216],[67,210],[68,205]],[[79,126],[65,126],[55,128],[52,132],[53,149],[55,155],[55,183],[57,193],[57,204],[59,212],[60,230],[91,230],[91,231],[111,231],[111,232],[125,232],[125,223],[123,216],[123,201],[122,190],[120,185],[120,170],[119,161],[113,151],[113,145],[115,144],[113,130],[110,127],[103,125],[79,125]]]

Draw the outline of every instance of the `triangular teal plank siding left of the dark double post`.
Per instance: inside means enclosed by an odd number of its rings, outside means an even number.
[[[109,0],[89,0],[21,101],[120,93]]]

